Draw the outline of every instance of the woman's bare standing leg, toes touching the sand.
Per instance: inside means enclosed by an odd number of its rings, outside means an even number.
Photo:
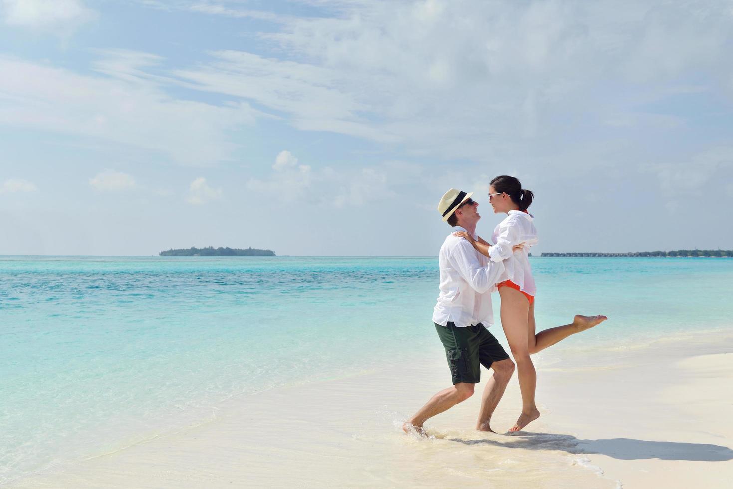
[[[518,290],[511,287],[500,287],[501,326],[507,335],[509,348],[512,349],[514,361],[519,372],[519,388],[522,391],[522,413],[517,423],[509,432],[521,430],[529,422],[539,418],[539,411],[534,402],[534,391],[537,389],[537,372],[529,357],[529,301]]]

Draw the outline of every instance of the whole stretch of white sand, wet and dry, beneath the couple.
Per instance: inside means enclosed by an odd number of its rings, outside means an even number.
[[[419,440],[399,422],[449,383],[438,351],[427,364],[240,397],[213,422],[11,487],[727,488],[733,480],[733,336],[558,350],[567,360],[539,368],[542,417],[528,433],[473,430],[475,395],[430,420],[435,438]],[[493,427],[506,430],[519,410],[515,378]]]

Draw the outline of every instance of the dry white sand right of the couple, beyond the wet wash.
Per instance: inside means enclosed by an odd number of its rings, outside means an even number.
[[[603,355],[583,359],[596,369],[543,372],[545,421],[583,438],[578,447],[624,488],[729,488],[732,339],[661,342],[616,352],[614,368]]]

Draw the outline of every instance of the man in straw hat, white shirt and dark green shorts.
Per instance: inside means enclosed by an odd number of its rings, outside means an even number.
[[[478,202],[451,188],[438,203],[438,212],[457,231],[476,238],[476,223],[481,216]],[[507,389],[515,366],[499,342],[484,326],[493,323],[491,288],[504,271],[502,262],[491,262],[474,250],[468,240],[448,235],[438,257],[441,271],[440,295],[432,314],[453,386],[435,394],[414,416],[402,425],[405,433],[424,435],[423,423],[474,394],[480,365],[493,369],[481,399],[476,430],[493,431],[491,415]]]

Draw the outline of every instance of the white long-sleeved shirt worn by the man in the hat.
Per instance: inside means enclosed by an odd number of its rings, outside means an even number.
[[[466,231],[460,226],[456,226],[455,230]],[[441,271],[441,293],[432,312],[432,322],[446,326],[452,321],[459,328],[478,323],[492,325],[494,312],[491,308],[491,290],[504,272],[504,265],[491,262],[476,251],[468,240],[452,234],[443,241],[438,265]]]

